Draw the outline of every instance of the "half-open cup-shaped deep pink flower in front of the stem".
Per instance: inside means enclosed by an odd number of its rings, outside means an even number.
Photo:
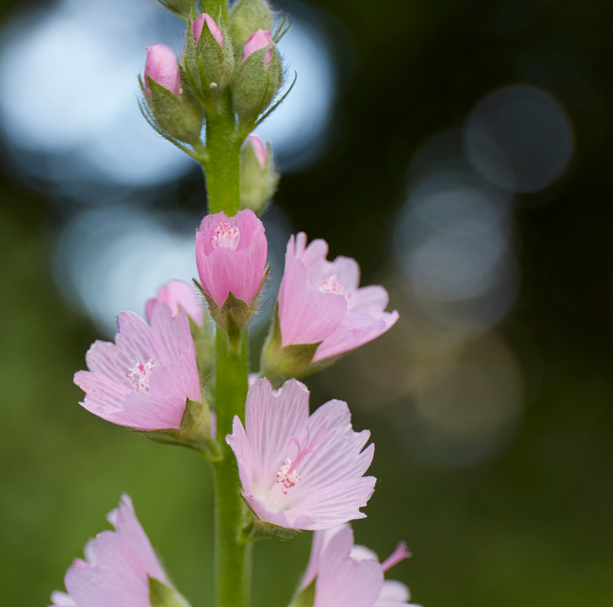
[[[251,303],[266,267],[264,226],[251,210],[207,215],[196,233],[196,264],[205,293],[221,308],[230,292]]]

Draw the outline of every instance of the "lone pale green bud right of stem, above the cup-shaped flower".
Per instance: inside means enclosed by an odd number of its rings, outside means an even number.
[[[264,145],[256,135],[249,135],[240,152],[241,207],[260,213],[272,199],[278,183],[270,143]]]

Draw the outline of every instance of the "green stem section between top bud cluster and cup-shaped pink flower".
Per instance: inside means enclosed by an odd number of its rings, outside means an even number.
[[[230,90],[207,115],[207,158],[200,160],[207,180],[208,212],[236,215],[240,210],[239,159],[244,137],[235,131]]]

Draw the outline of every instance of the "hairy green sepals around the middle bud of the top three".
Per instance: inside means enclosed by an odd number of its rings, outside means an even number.
[[[185,70],[191,86],[195,88],[199,101],[212,111],[210,100],[216,100],[225,90],[234,73],[234,50],[232,41],[224,29],[221,18],[216,20],[224,39],[221,48],[215,36],[211,34],[205,22],[197,44],[192,32],[192,18],[188,21],[188,33],[185,36]]]

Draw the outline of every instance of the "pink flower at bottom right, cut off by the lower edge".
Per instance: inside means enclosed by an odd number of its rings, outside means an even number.
[[[384,573],[409,557],[406,544],[379,563],[375,552],[354,546],[353,531],[341,525],[316,531],[300,590],[315,581],[313,607],[400,607],[411,597],[401,582],[384,580]]]

